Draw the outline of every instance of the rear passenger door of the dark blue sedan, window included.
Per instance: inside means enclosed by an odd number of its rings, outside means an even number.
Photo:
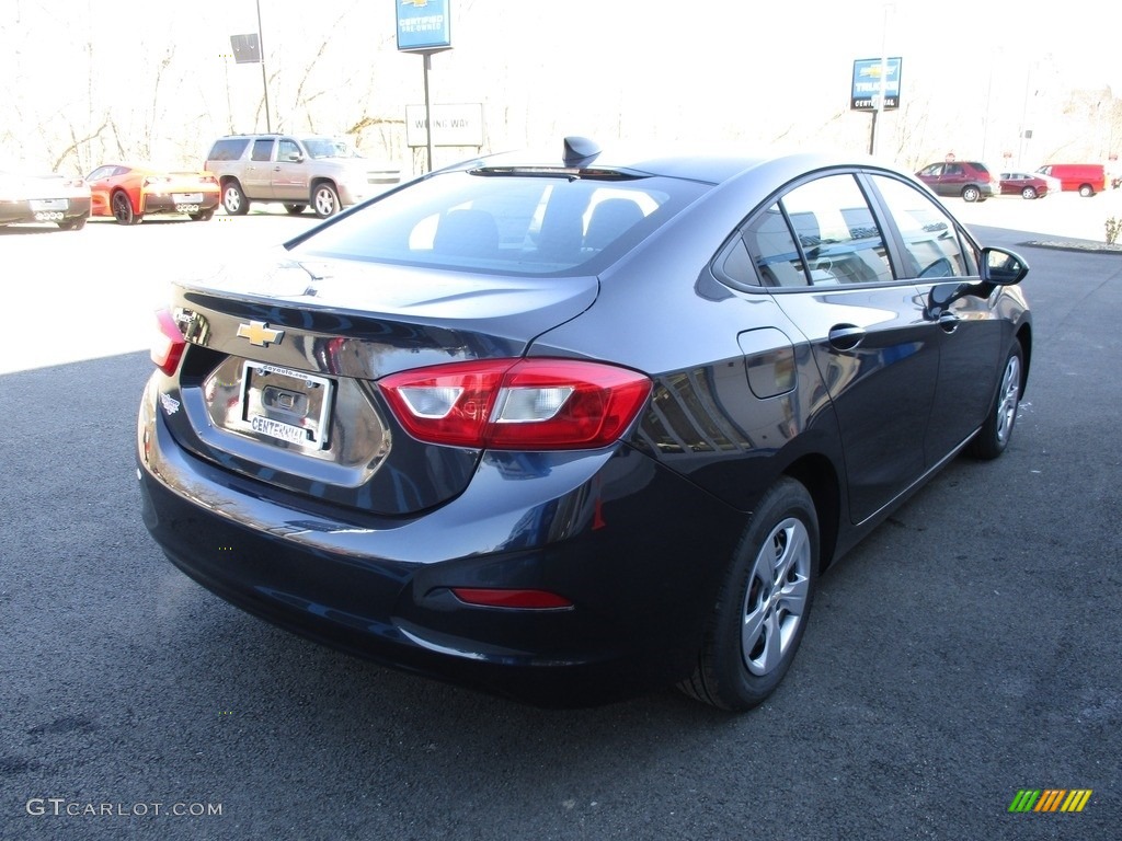
[[[810,342],[838,418],[849,517],[861,523],[925,471],[939,370],[926,302],[894,276],[853,173],[797,185],[749,221],[744,239]]]

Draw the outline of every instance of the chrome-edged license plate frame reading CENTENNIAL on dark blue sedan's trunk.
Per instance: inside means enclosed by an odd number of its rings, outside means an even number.
[[[334,387],[328,377],[246,360],[241,367],[241,420],[270,444],[327,450]]]

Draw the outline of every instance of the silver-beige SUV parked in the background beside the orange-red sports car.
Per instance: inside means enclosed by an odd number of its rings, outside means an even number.
[[[282,202],[289,213],[312,205],[324,219],[401,182],[344,140],[314,135],[230,135],[214,141],[203,168],[222,185],[222,206],[240,216],[250,202]]]

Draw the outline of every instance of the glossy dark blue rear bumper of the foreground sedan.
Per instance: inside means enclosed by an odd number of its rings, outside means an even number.
[[[144,518],[168,558],[243,610],[397,668],[543,706],[686,677],[743,516],[628,447],[485,456],[420,517],[340,516],[187,454],[150,383]],[[544,589],[563,610],[461,602]]]

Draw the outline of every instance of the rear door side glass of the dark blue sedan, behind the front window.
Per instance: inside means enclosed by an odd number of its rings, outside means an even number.
[[[743,232],[743,248],[758,276],[746,280],[737,262],[742,243],[726,259],[734,280],[764,286],[839,286],[893,279],[884,237],[850,174],[801,184],[754,216]]]

